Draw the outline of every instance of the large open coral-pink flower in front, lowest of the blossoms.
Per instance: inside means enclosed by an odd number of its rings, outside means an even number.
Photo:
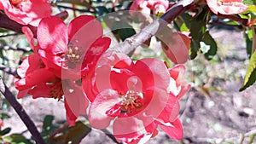
[[[178,99],[190,88],[182,72],[184,66],[168,70],[157,59],[133,63],[124,54],[103,55],[91,81],[94,93],[88,95],[90,125],[104,129],[114,120],[113,135],[127,143],[148,141],[157,134],[158,125],[170,137],[182,139]]]

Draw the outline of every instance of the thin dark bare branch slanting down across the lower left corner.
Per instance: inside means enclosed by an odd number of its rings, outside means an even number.
[[[46,144],[42,136],[40,135],[36,125],[33,123],[32,119],[29,118],[23,107],[20,105],[20,103],[16,100],[15,95],[13,95],[7,86],[3,82],[3,78],[0,77],[0,92],[3,94],[3,96],[6,98],[7,101],[9,101],[9,104],[14,107],[15,112],[18,113],[20,116],[20,119],[23,121],[23,123],[26,125],[27,130],[30,131],[32,134],[33,139],[38,144]]]

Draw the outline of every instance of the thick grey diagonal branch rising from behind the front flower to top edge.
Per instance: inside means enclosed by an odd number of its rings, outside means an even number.
[[[134,36],[126,38],[123,43],[119,43],[113,46],[113,50],[129,54],[133,49],[136,49],[139,45],[144,43],[148,38],[154,36],[156,32],[160,31],[161,27],[165,27],[166,24],[172,22],[178,15],[183,14],[186,10],[190,9],[194,0],[182,0],[172,6],[160,19],[154,20],[153,23],[146,26]]]

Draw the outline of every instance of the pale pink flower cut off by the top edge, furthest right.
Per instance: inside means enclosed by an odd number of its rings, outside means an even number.
[[[207,5],[214,14],[240,14],[247,10],[241,0],[207,0]]]

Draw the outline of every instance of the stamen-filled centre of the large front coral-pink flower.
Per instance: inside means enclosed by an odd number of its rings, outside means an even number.
[[[135,92],[133,90],[127,91],[125,95],[121,95],[123,101],[121,101],[122,112],[132,112],[134,108],[140,109],[143,107],[143,93]]]

